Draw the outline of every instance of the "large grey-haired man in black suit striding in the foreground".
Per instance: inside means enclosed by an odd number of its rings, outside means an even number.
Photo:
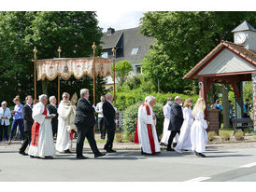
[[[77,158],[85,159],[82,155],[82,149],[84,144],[85,137],[87,138],[94,158],[105,156],[102,154],[96,144],[93,134],[93,126],[96,122],[94,112],[95,106],[89,102],[89,89],[80,89],[80,99],[78,100],[77,105],[77,114],[75,117],[75,125],[78,128],[78,139],[77,139]]]

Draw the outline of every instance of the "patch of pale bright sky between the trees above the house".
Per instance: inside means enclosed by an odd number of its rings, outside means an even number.
[[[103,32],[107,32],[108,27],[114,28],[116,31],[121,29],[134,28],[139,25],[139,19],[143,17],[146,11],[96,11],[99,26],[103,28]]]

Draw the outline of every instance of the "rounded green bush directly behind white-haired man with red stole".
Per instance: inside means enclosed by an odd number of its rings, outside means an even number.
[[[135,134],[136,121],[137,121],[137,111],[140,103],[135,103],[124,111],[123,113],[123,130],[127,135]],[[156,128],[157,134],[160,135],[163,132],[164,127],[164,112],[163,104],[157,103],[153,107],[154,114],[157,118]]]

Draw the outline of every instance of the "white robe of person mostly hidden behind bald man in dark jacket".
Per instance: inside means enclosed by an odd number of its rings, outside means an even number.
[[[164,128],[163,128],[163,136],[160,143],[168,144],[168,140],[172,130],[168,130],[170,124],[170,116],[171,116],[171,106],[166,103],[163,107],[164,111]],[[173,143],[178,142],[178,134],[175,136]]]

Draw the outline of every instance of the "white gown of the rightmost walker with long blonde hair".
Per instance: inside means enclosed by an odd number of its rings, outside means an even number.
[[[208,125],[202,111],[197,112],[194,118],[191,131],[192,151],[203,153],[206,151],[206,142],[208,141],[206,133]]]

